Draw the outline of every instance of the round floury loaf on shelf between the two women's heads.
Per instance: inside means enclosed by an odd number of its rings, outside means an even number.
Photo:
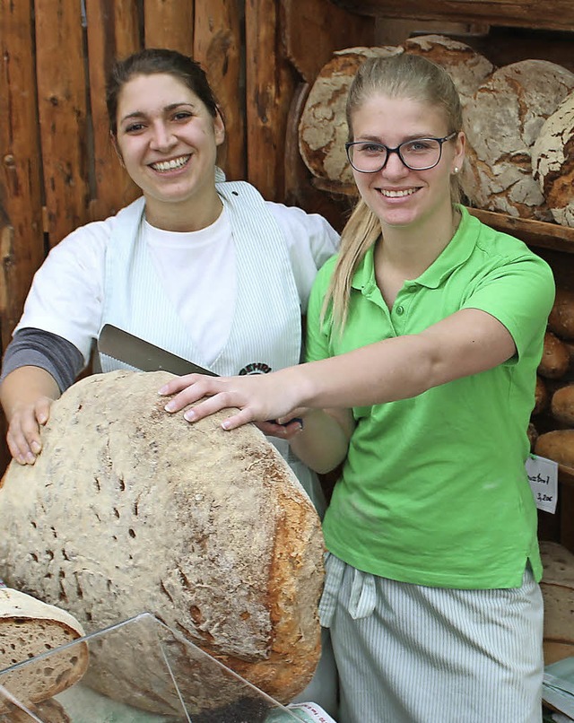
[[[335,52],[309,91],[299,124],[299,150],[314,176],[351,184],[352,170],[344,144],[349,130],[345,117],[352,79],[368,57],[400,55],[403,48],[346,48]]]

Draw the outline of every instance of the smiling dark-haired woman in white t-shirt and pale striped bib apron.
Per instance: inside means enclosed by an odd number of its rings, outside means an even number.
[[[22,465],[41,453],[39,427],[50,405],[88,364],[107,323],[218,374],[298,363],[301,313],[317,269],[338,244],[321,216],[225,181],[216,166],[222,114],[190,57],[151,48],[118,61],[107,103],[112,142],[142,196],[71,233],[34,277],[0,388],[8,445]],[[100,355],[100,366],[121,364]],[[260,427],[322,516],[317,475],[287,442],[300,422]],[[320,666],[321,683],[303,700],[333,712],[328,649]]]

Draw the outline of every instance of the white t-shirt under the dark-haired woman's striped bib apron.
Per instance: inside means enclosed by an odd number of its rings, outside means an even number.
[[[279,224],[300,295],[307,309],[317,269],[338,247],[338,234],[315,213],[266,202]],[[35,327],[64,337],[87,363],[100,332],[106,246],[110,219],[88,223],[52,248],[34,275],[22,318],[15,331]],[[147,223],[143,233],[153,263],[186,320],[204,358],[214,359],[229,332],[235,294],[235,257],[228,213],[200,231],[161,231]]]

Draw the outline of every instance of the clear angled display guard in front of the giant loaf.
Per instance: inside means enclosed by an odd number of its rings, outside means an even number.
[[[313,708],[284,707],[152,614],[0,671],[0,723],[332,721]]]

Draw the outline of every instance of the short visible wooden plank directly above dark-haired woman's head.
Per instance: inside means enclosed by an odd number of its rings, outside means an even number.
[[[143,26],[146,48],[193,54],[194,0],[144,0]]]

